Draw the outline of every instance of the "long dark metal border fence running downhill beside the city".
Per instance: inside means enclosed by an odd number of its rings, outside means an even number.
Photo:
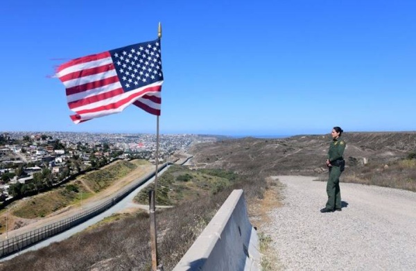
[[[173,164],[173,163],[169,162],[168,164]],[[166,166],[167,164],[163,164],[160,168],[158,168],[157,171],[158,172],[162,171],[162,169],[166,168]],[[147,182],[148,180],[150,180],[150,178],[154,176],[155,176],[155,173],[148,174],[147,176],[143,177],[140,182],[133,184],[131,186],[128,186],[126,189],[124,189],[120,193],[117,193],[117,195],[114,196],[114,198],[110,198],[109,200],[106,200],[105,202],[97,205],[96,207],[92,207],[91,209],[83,211],[82,213],[78,213],[75,216],[71,216],[70,218],[66,218],[58,222],[51,223],[50,225],[46,225],[44,227],[41,227],[40,229],[35,229],[25,234],[13,236],[12,238],[9,238],[5,241],[1,241],[0,259],[10,254],[13,254],[15,252],[19,252],[26,247],[30,247],[31,245],[35,245],[35,243],[43,241],[46,238],[49,238],[56,234],[60,234],[62,231],[66,231],[67,229],[70,229],[71,227],[80,225],[81,223],[89,220],[90,218],[93,218],[94,216],[97,216],[98,214],[103,213],[103,211],[110,209],[110,207],[112,207],[117,202],[121,201],[123,198],[125,198],[125,196],[130,194],[132,191],[137,189],[137,187],[141,186],[141,184],[144,184],[145,182]]]

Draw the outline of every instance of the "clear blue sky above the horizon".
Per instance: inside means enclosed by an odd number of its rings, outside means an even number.
[[[162,134],[416,130],[416,1],[6,1],[0,131],[156,132],[135,106],[78,125],[73,58],[157,38]]]

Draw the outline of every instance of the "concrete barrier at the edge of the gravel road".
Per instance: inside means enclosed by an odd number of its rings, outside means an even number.
[[[243,190],[234,190],[173,271],[261,270],[257,231]]]

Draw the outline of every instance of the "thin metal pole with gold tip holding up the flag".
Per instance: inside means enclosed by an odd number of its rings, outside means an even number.
[[[157,36],[162,38],[162,25],[159,22]],[[150,209],[150,247],[152,249],[152,270],[157,271],[157,230],[156,230],[156,189],[157,189],[157,166],[159,165],[159,115],[156,118],[156,169],[155,189],[149,193]]]

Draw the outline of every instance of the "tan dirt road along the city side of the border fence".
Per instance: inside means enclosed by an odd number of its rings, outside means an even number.
[[[17,202],[14,202],[13,204],[8,207],[9,213],[3,212],[3,214],[0,216],[0,221],[6,222],[6,215],[8,216],[8,237],[10,236],[16,236],[19,234],[23,234],[24,232],[33,231],[34,229],[43,227],[44,225],[51,224],[53,222],[57,222],[59,220],[62,220],[64,218],[68,218],[70,216],[75,215],[76,213],[79,213],[80,211],[83,211],[83,209],[86,209],[87,207],[95,204],[96,202],[100,200],[104,200],[105,198],[109,198],[114,193],[121,191],[125,188],[126,185],[130,184],[134,180],[137,180],[141,177],[144,177],[145,175],[148,175],[155,171],[155,166],[152,164],[146,164],[146,165],[139,165],[137,168],[135,168],[132,172],[128,173],[125,177],[120,178],[119,180],[116,180],[111,186],[109,186],[104,191],[101,191],[99,193],[95,193],[90,196],[89,198],[83,200],[82,204],[83,207],[80,206],[80,203],[78,204],[72,204],[67,207],[64,207],[62,209],[59,209],[58,211],[55,211],[45,218],[35,218],[35,219],[25,219],[25,218],[18,218],[16,216],[12,216],[10,213],[10,210],[15,208],[19,208],[21,204],[24,202],[19,200]],[[86,190],[91,191],[92,189],[89,188],[85,184],[85,182],[82,181],[82,177],[78,177],[76,181],[81,181],[83,183],[83,186]],[[83,209],[81,209],[83,208]],[[18,229],[13,229],[14,227],[19,227]],[[11,230],[10,230],[11,229]],[[6,234],[3,233],[0,235],[0,241],[6,239]]]

